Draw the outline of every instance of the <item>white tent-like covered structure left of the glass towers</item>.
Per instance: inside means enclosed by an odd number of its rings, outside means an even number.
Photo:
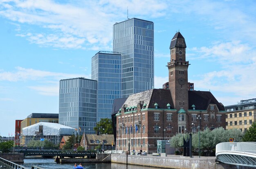
[[[62,136],[70,136],[75,129],[58,123],[40,122],[22,129],[22,141],[27,145],[31,140],[47,139],[57,145],[61,142]]]

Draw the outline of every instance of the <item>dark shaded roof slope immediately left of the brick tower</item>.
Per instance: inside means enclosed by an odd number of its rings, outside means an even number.
[[[166,109],[168,103],[171,105],[171,109],[174,109],[171,92],[168,89],[153,89],[148,108],[155,108],[155,103],[158,104],[159,109]]]

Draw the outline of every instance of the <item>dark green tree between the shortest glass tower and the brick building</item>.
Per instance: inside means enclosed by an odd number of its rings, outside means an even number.
[[[96,124],[96,127],[93,129],[95,132],[99,131],[101,134],[113,134],[112,120],[103,118]]]

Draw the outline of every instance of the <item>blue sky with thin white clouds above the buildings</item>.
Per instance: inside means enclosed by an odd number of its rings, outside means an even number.
[[[255,0],[0,0],[0,135],[31,113],[58,113],[59,81],[90,79],[91,58],[112,50],[113,24],[127,18],[154,22],[155,88],[168,81],[180,31],[195,90],[223,105],[256,98],[255,9]]]

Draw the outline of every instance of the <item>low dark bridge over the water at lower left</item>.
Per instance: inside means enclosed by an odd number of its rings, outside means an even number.
[[[45,157],[52,157],[52,156],[59,156],[60,158],[64,157],[84,157],[87,156],[88,158],[95,158],[96,157],[96,151],[92,150],[79,150],[79,151],[73,151],[73,150],[20,150],[20,153],[23,153],[24,156],[45,156]]]

